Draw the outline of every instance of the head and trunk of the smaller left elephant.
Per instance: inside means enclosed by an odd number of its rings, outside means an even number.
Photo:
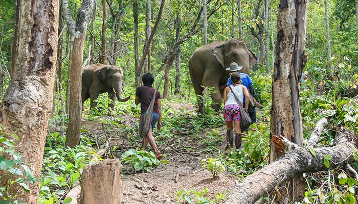
[[[123,87],[123,71],[119,66],[104,66],[101,68],[97,76],[103,81],[109,89],[116,93],[117,99],[121,102],[129,100],[130,96],[122,98],[122,87]],[[108,90],[109,91],[109,90]]]

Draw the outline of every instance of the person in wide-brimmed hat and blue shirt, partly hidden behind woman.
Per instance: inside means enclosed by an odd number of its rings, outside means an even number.
[[[237,65],[236,62],[232,62],[230,64],[230,67],[226,68],[227,71],[231,73],[233,72],[238,72],[240,74],[240,77],[241,77],[241,84],[244,85],[252,95],[254,95],[254,88],[252,86],[252,80],[251,78],[249,77],[248,74],[245,74],[245,73],[241,73],[239,72],[240,69],[242,69],[242,66],[239,66]],[[229,77],[228,79],[228,86],[232,85],[232,81]],[[245,98],[246,97],[243,97],[243,103],[245,103]],[[249,97],[248,97],[249,98]],[[250,115],[250,118],[251,118],[251,121],[252,123],[256,122],[256,108],[254,105],[252,105],[251,103],[249,103],[249,110],[248,110],[248,113]],[[247,130],[242,130],[242,131],[247,131]]]

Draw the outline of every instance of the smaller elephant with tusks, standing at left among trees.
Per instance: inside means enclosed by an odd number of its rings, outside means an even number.
[[[96,106],[94,100],[99,94],[107,92],[113,103],[109,105],[114,109],[116,97],[125,102],[130,96],[122,98],[123,70],[119,66],[92,64],[82,69],[82,107],[85,100],[91,98],[91,108]]]

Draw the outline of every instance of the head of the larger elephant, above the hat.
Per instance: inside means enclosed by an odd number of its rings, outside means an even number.
[[[257,60],[254,53],[248,49],[246,41],[242,39],[230,39],[225,44],[214,47],[212,52],[223,68],[236,62],[242,66],[241,72],[247,74],[250,73],[249,65]]]

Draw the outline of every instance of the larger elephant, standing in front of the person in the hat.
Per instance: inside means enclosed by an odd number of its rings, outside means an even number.
[[[248,49],[247,42],[242,39],[228,41],[214,41],[199,47],[189,59],[189,72],[191,82],[197,95],[203,94],[204,87],[214,87],[211,94],[214,105],[218,110],[222,102],[223,88],[229,78],[225,70],[230,63],[236,62],[242,66],[240,72],[250,73],[249,65],[256,62],[253,52]],[[199,111],[203,106],[199,104]]]

